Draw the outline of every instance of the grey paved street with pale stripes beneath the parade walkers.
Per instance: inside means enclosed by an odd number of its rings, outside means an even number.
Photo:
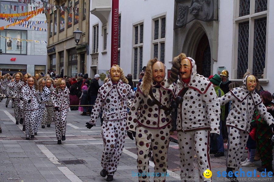
[[[102,169],[100,161],[103,151],[103,141],[101,138],[100,121],[95,127],[87,129],[85,123],[89,121],[89,116],[81,116],[78,111],[68,112],[66,140],[62,145],[57,145],[55,135],[55,125],[42,129],[33,140],[25,140],[22,125],[16,125],[14,112],[11,103],[5,107],[5,99],[0,102],[0,124],[2,134],[0,134],[0,181],[24,181],[24,182],[82,182],[82,181],[106,181],[100,176]],[[244,154],[245,157],[247,154]],[[225,171],[225,157],[211,157],[212,181],[225,180],[224,177],[217,178],[217,171],[220,174]],[[244,159],[245,159],[244,157]],[[137,181],[137,177],[132,177],[136,169],[136,146],[126,136],[125,148],[120,159],[117,172],[114,174],[114,181],[130,182]],[[64,164],[62,161],[82,160],[80,164]],[[195,158],[196,160],[196,158]],[[71,161],[72,162],[72,161]],[[81,162],[81,161],[79,161]],[[168,150],[168,172],[170,177],[167,181],[180,181],[180,159],[177,143],[170,142]],[[242,168],[245,171],[254,171],[260,165],[260,161],[255,162],[256,166]],[[153,172],[153,162],[150,161],[150,172]],[[198,173],[197,165],[196,171]],[[259,174],[258,171],[256,175]],[[252,173],[253,176],[253,173]],[[197,177],[195,182],[198,181]],[[243,177],[241,181],[267,180],[266,177]],[[255,178],[255,179],[252,179]],[[274,181],[274,178],[268,178]]]

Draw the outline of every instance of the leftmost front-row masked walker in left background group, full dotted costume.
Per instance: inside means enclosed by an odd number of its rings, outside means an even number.
[[[28,78],[27,85],[22,88],[24,119],[26,125],[26,140],[34,138],[35,123],[38,116],[38,83],[34,76]]]

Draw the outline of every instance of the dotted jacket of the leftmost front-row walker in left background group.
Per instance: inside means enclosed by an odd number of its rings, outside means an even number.
[[[38,90],[35,90],[35,86],[28,86],[25,85],[22,87],[22,97],[23,97],[23,109],[24,110],[37,110],[39,109],[39,104],[38,104]],[[29,100],[31,102],[29,103]]]

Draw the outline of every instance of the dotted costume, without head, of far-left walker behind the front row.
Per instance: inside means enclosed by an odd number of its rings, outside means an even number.
[[[20,98],[21,97],[21,90],[20,88],[24,85],[25,83],[21,80],[14,81],[11,83],[11,88],[13,91],[12,97]],[[23,116],[23,110],[20,109],[19,107],[20,100],[19,99],[14,99],[14,115],[15,115],[15,120],[16,122],[19,122],[20,118]]]

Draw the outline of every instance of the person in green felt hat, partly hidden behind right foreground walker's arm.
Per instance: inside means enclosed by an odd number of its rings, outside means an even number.
[[[220,83],[222,81],[221,77],[217,74],[212,76],[209,81],[213,84],[217,97],[224,95],[223,90],[220,88]],[[225,106],[221,106],[221,119],[220,119],[220,135],[216,140],[210,140],[210,152],[215,154],[215,157],[224,156],[224,147],[223,147],[223,136],[222,136],[222,122],[224,120]]]

